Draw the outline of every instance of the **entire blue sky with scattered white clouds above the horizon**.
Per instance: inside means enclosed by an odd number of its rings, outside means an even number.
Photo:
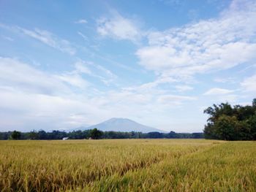
[[[0,1],[0,131],[129,118],[203,131],[256,97],[256,1]]]

